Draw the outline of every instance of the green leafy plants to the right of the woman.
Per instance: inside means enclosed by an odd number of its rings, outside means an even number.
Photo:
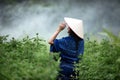
[[[104,29],[108,39],[86,40],[83,59],[79,64],[80,80],[120,79],[120,38]]]

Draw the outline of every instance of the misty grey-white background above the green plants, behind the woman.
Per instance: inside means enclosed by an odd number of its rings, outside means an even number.
[[[85,34],[120,32],[119,0],[0,0],[0,35],[48,39],[64,17],[83,20]],[[58,37],[66,36],[64,30]]]

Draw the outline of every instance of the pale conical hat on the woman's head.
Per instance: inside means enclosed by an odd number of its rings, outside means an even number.
[[[68,18],[64,17],[65,22],[67,25],[75,32],[77,36],[80,38],[84,38],[84,32],[83,32],[83,21],[79,19],[74,18]]]

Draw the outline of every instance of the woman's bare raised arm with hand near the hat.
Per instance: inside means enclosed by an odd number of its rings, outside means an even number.
[[[59,27],[57,28],[57,30],[54,32],[54,34],[50,37],[50,39],[48,40],[49,44],[54,44],[54,40],[56,39],[57,35],[65,28],[66,23],[62,22],[60,23]]]

